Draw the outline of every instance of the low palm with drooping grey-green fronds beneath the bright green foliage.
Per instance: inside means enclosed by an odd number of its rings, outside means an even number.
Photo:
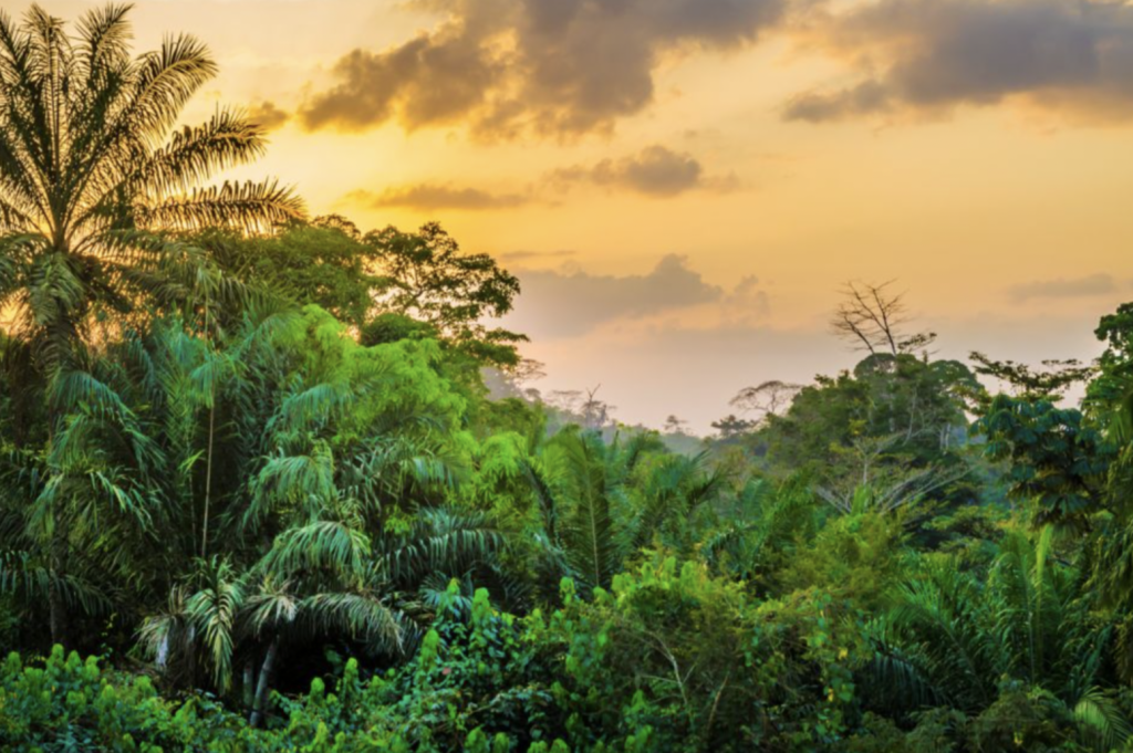
[[[339,636],[399,654],[435,617],[440,601],[426,604],[434,576],[444,581],[485,562],[501,542],[482,520],[445,510],[423,514],[402,536],[337,521],[297,524],[242,571],[227,558],[198,559],[139,639],[160,669],[176,667],[193,682],[204,665],[221,691],[242,659],[255,726],[289,644]]]

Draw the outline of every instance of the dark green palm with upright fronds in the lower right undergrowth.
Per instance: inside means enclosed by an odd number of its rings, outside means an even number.
[[[1110,630],[1091,617],[1077,568],[1055,561],[1053,534],[1012,532],[982,581],[951,558],[927,563],[871,625],[871,685],[897,707],[979,712],[1011,678],[1048,692],[1085,744],[1124,744],[1133,727],[1098,682]]]

